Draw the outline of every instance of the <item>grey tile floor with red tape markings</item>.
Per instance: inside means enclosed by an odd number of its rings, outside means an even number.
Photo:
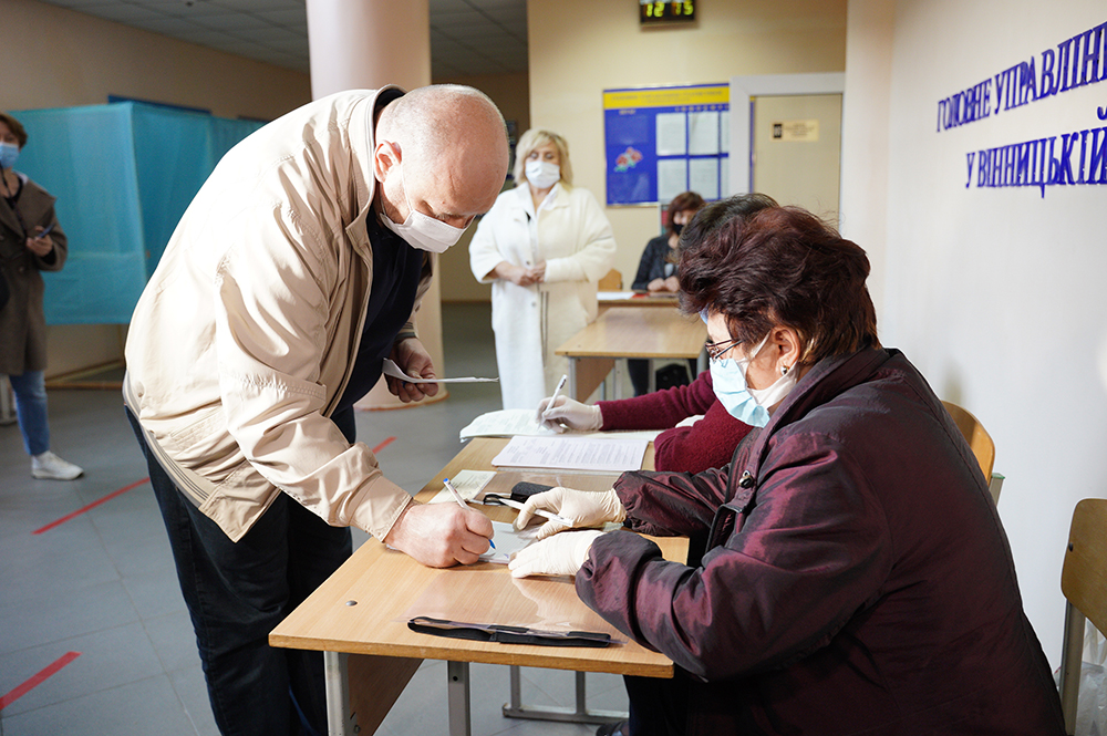
[[[449,374],[495,375],[487,304],[444,304],[443,332]],[[395,437],[381,465],[414,493],[461,448],[458,431],[499,406],[495,384],[459,384],[436,404],[360,412],[359,438],[372,447]],[[82,478],[31,478],[18,427],[0,426],[0,736],[216,734],[162,519],[149,485],[139,483],[146,468],[117,392],[51,391],[50,428],[53,449],[81,465]],[[365,539],[355,532],[355,545]],[[54,663],[65,664],[40,675]],[[474,665],[470,675],[475,736],[594,730],[505,718],[507,667]],[[29,681],[38,684],[17,697]],[[617,676],[588,675],[588,692],[592,708],[625,708]],[[526,668],[523,696],[528,705],[572,706],[573,675]],[[445,734],[445,663],[427,661],[379,733]]]

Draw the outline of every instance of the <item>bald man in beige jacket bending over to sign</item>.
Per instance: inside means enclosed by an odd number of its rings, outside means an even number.
[[[124,398],[225,734],[325,732],[321,656],[267,636],[350,554],[349,527],[434,567],[488,549],[482,514],[382,475],[352,405],[384,357],[434,377],[413,329],[431,253],[492,207],[507,163],[470,87],[318,100],[223,158],[135,309]]]

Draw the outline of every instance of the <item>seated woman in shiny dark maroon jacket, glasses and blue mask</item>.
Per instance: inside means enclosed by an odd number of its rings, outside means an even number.
[[[692,539],[681,564],[555,522],[510,563],[575,574],[589,608],[676,663],[628,678],[631,719],[601,733],[1061,736],[987,481],[925,379],[881,348],[865,251],[799,208],[700,225],[682,308],[707,324],[718,400],[758,429],[727,467],[557,488],[518,517]]]

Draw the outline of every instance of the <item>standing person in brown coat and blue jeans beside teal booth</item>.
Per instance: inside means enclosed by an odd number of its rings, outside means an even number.
[[[40,271],[60,271],[69,253],[54,198],[14,170],[27,145],[18,120],[0,113],[0,374],[11,381],[31,475],[73,480],[84,470],[50,452],[46,423],[46,318]]]

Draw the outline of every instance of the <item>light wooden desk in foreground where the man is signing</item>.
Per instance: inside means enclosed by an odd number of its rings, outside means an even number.
[[[418,498],[442,489],[442,478],[457,470],[492,468],[506,438],[469,442]],[[643,467],[653,467],[652,445]],[[474,508],[508,521],[514,511]],[[656,539],[665,557],[684,560],[687,540]],[[510,612],[516,620],[567,621],[571,628],[606,631],[624,642],[606,649],[525,646],[444,639],[407,629],[407,620],[436,600],[465,600],[487,614]],[[425,611],[422,611],[425,613]],[[536,624],[537,625],[537,624]],[[551,628],[551,626],[546,626]],[[332,736],[372,734],[387,715],[424,659],[448,662],[449,733],[469,733],[468,663],[507,664],[577,672],[672,677],[672,661],[646,650],[600,619],[577,598],[569,578],[516,580],[506,566],[480,563],[436,570],[425,568],[376,540],[365,542],[327,582],[269,635],[272,646],[324,652],[329,732]]]

